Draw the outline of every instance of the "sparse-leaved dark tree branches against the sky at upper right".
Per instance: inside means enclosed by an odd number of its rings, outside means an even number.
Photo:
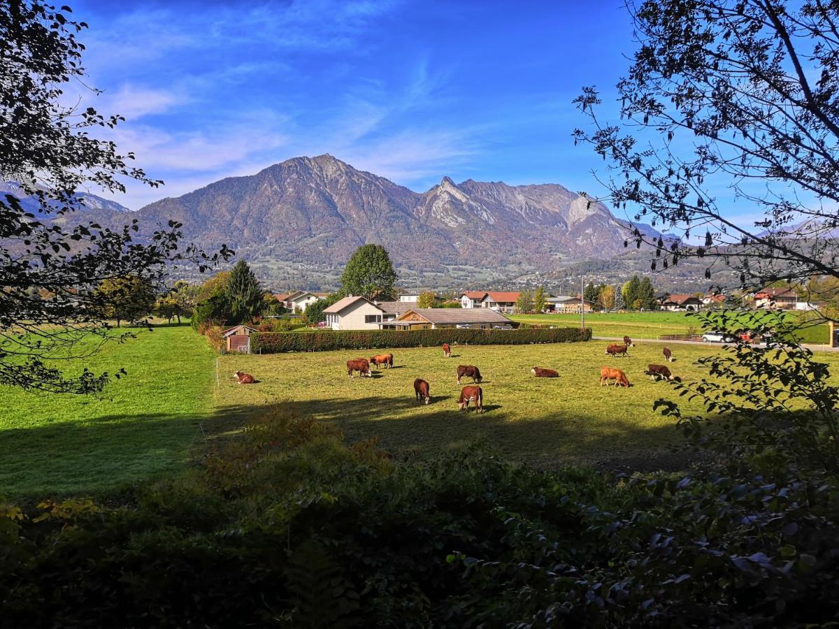
[[[652,268],[707,257],[745,285],[813,274],[839,278],[839,5],[821,0],[628,3],[638,49],[618,83],[622,125],[602,122],[597,91],[577,129],[607,159],[612,204],[679,233]],[[714,190],[763,210],[737,221]],[[696,242],[694,237],[700,237]]]

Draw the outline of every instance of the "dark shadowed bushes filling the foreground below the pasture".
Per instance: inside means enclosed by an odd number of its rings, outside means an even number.
[[[839,485],[394,461],[281,411],[123,506],[0,504],[0,626],[790,626]]]

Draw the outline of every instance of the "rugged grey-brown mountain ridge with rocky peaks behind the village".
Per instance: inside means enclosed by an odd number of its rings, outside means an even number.
[[[398,266],[418,272],[522,265],[547,271],[563,261],[617,255],[628,236],[605,205],[561,185],[456,184],[444,177],[417,193],[331,155],[221,179],[146,205],[136,217],[148,226],[174,219],[201,247],[225,242],[263,263],[336,267],[375,242]]]

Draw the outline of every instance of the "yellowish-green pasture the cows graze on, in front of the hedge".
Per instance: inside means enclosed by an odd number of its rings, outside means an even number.
[[[678,346],[673,371],[698,377],[691,363],[717,348]],[[395,367],[377,377],[347,378],[345,362],[359,351],[272,356],[222,356],[221,372],[253,373],[253,387],[221,379],[220,398],[240,406],[294,402],[301,414],[338,424],[349,440],[378,437],[389,450],[433,453],[448,444],[485,437],[509,457],[539,465],[597,461],[661,453],[678,439],[670,419],[653,413],[652,403],[669,386],[643,372],[661,362],[661,346],[639,343],[628,358],[608,358],[604,343],[537,346],[459,346],[446,359],[438,348],[394,352]],[[456,407],[458,364],[480,367],[487,413],[460,413]],[[633,387],[599,386],[600,366],[620,366]],[[534,365],[560,372],[559,379],[530,376]],[[413,382],[430,382],[432,403],[414,403]],[[464,384],[470,382],[468,378]],[[687,405],[699,411],[696,405]]]

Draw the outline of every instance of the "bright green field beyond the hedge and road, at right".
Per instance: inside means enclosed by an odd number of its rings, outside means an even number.
[[[795,316],[795,315],[792,315]],[[541,325],[580,325],[579,314],[513,314],[510,319]],[[701,325],[696,317],[680,312],[627,312],[586,314],[586,327],[595,336],[628,335],[635,339],[657,339],[660,335],[687,334]],[[811,325],[800,331],[805,343],[828,342],[827,325]]]

